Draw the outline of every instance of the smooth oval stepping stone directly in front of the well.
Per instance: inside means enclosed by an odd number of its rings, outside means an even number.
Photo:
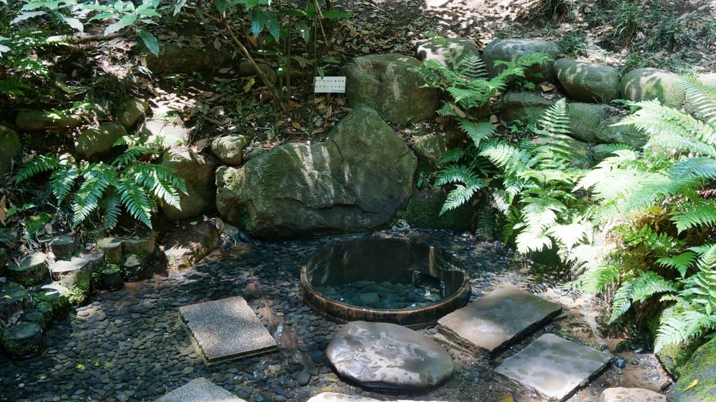
[[[433,388],[455,369],[453,358],[434,340],[390,323],[347,323],[326,356],[341,376],[391,391]]]

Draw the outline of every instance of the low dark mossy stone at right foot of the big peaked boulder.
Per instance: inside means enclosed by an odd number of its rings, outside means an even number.
[[[470,205],[463,205],[440,216],[443,203],[445,203],[445,194],[442,191],[423,191],[410,198],[400,216],[408,222],[410,227],[447,229],[455,232],[470,230],[474,214],[473,208]]]

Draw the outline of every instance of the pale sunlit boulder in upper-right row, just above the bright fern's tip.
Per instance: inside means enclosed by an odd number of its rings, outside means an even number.
[[[662,69],[635,69],[621,78],[621,97],[631,101],[659,99],[669,107],[684,103],[684,90],[679,76]]]

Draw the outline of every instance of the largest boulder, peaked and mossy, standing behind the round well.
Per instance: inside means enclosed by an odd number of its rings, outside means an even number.
[[[284,144],[241,168],[220,167],[223,220],[260,237],[362,232],[387,225],[412,193],[417,160],[367,107],[314,144]]]

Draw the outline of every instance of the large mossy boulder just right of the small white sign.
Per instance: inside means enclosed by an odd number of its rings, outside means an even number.
[[[383,119],[407,124],[432,117],[437,91],[424,88],[425,79],[415,71],[420,61],[403,54],[370,54],[356,57],[341,69],[346,76],[346,97],[352,106],[364,104]]]

